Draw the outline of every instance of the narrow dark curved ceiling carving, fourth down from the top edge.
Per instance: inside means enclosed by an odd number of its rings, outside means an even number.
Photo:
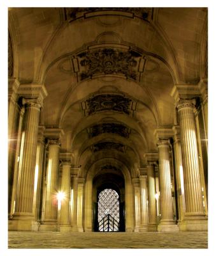
[[[128,138],[129,129],[122,124],[103,123],[97,124],[90,128],[89,137],[95,137],[102,133],[114,133],[124,138]]]

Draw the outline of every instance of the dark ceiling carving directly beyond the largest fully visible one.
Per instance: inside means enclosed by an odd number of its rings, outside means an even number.
[[[129,115],[132,100],[122,95],[102,94],[93,96],[86,102],[89,115],[99,111],[117,111]]]

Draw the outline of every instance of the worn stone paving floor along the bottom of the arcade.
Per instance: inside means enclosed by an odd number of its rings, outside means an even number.
[[[207,232],[8,232],[8,248],[208,248]]]

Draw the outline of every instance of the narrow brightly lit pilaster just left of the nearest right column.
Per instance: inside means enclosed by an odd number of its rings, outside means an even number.
[[[176,190],[178,200],[178,223],[180,224],[184,219],[185,212],[185,196],[184,196],[184,175],[182,167],[182,148],[180,142],[180,127],[173,126],[174,131],[174,156],[175,156],[175,176],[176,176]]]

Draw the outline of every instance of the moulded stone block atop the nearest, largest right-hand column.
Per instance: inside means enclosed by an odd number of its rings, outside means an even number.
[[[175,84],[170,93],[177,103],[180,99],[192,99],[199,97],[201,92],[198,84]]]

